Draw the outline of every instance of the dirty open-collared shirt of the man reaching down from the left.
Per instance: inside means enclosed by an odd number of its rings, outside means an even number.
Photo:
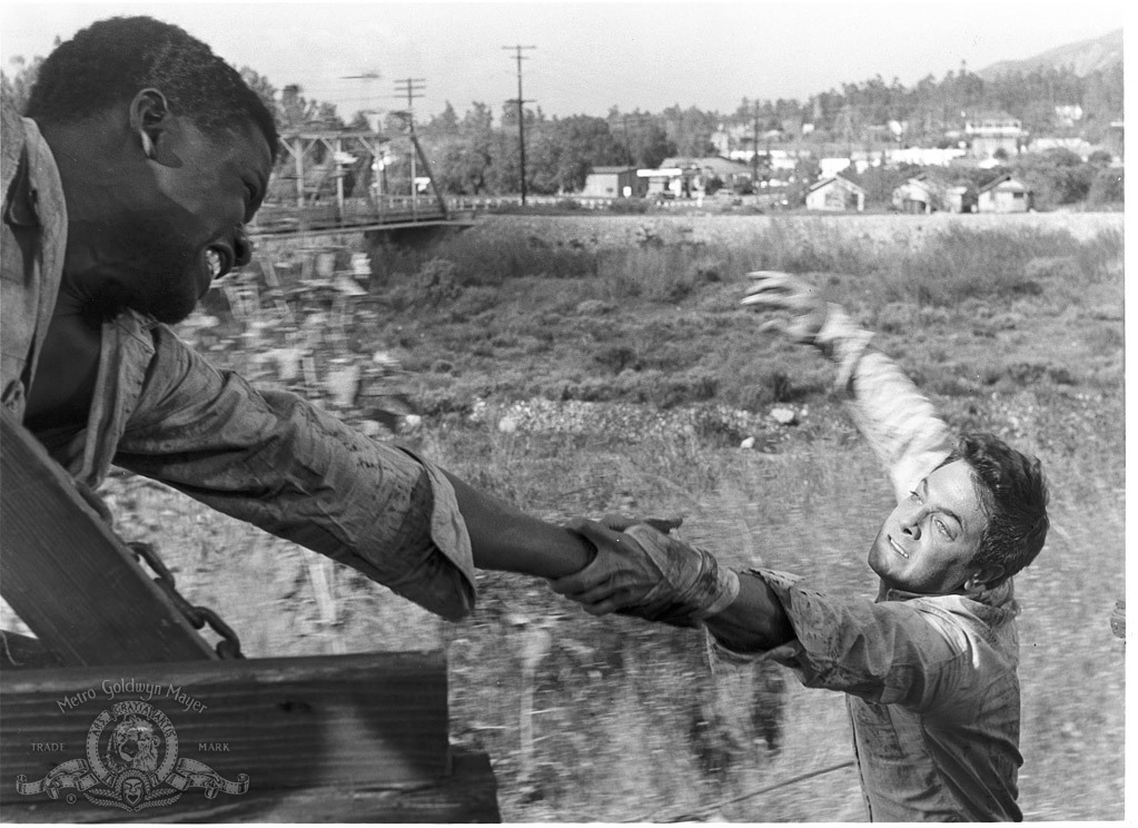
[[[0,403],[23,420],[59,292],[67,213],[35,123],[9,106],[3,183]],[[35,435],[79,482],[110,466],[358,569],[444,617],[473,606],[470,538],[436,466],[348,428],[304,399],[220,371],[155,320],[102,325],[86,425]]]

